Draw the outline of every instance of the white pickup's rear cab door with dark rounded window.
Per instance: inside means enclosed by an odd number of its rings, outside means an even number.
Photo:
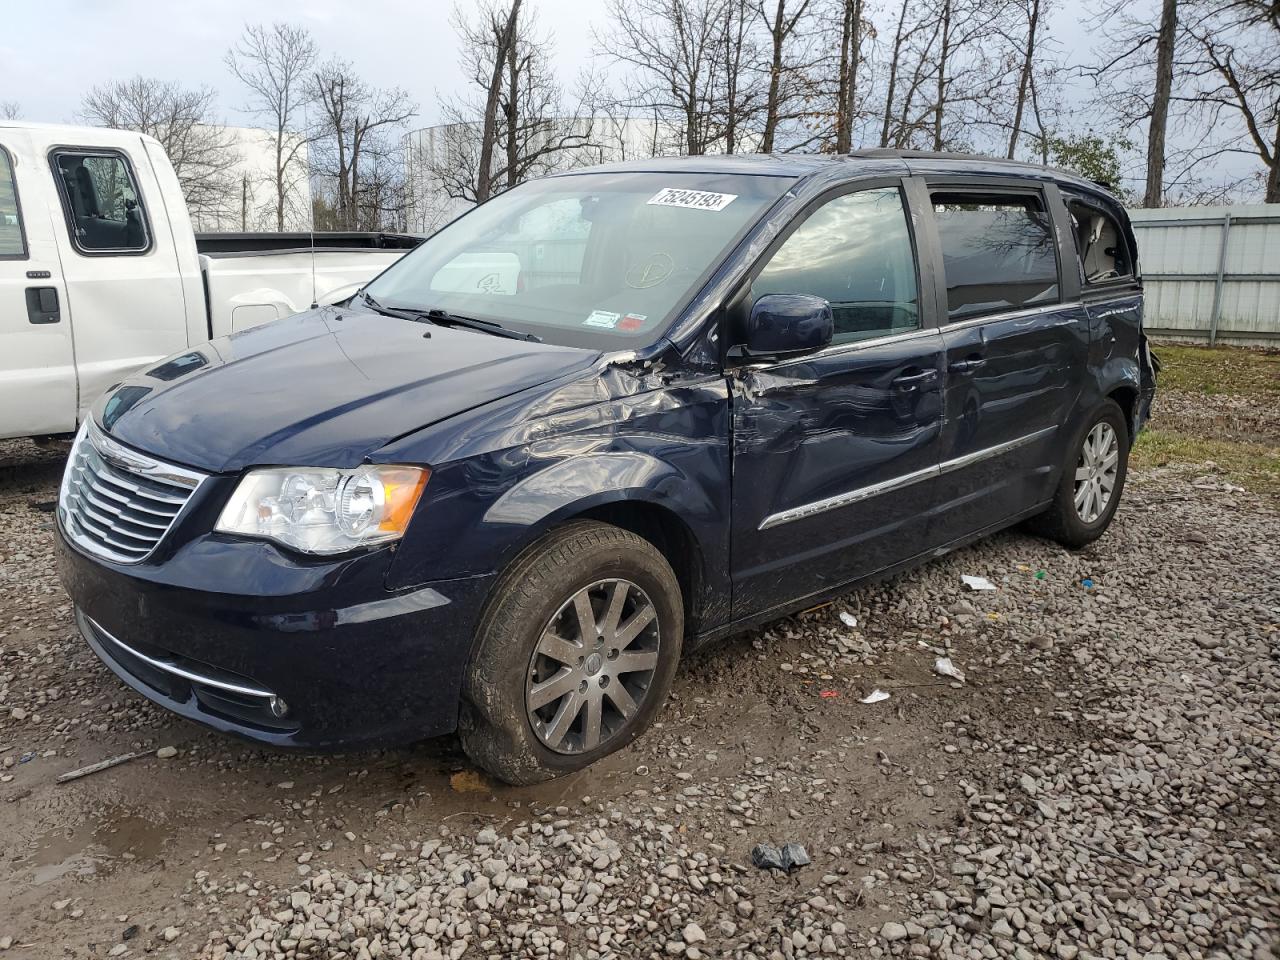
[[[187,347],[173,232],[141,145],[49,151],[83,410],[138,367]]]

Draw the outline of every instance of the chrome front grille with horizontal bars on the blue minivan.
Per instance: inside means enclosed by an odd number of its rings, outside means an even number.
[[[124,447],[86,420],[58,497],[63,532],[87,553],[138,563],[164,539],[205,475]]]

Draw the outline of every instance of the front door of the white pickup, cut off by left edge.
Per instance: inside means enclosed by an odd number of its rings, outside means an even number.
[[[0,438],[76,429],[76,355],[51,197],[29,137],[0,127]]]

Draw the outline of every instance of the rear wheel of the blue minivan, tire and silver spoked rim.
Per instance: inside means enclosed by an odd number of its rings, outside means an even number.
[[[1029,526],[1034,532],[1079,548],[1111,525],[1129,468],[1129,426],[1115,401],[1088,417],[1066,451],[1053,502]]]

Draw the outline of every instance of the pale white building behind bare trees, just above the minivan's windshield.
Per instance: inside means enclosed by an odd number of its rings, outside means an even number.
[[[584,142],[553,154],[535,175],[596,164],[684,152],[677,125],[644,118],[577,118],[567,122]],[[436,175],[440,169],[474,169],[480,124],[436,124],[404,136],[404,184],[408,193],[408,230],[431,233],[466,212],[472,205],[449,196]],[[502,151],[502,145],[498,145]],[[495,160],[500,163],[500,157]]]

